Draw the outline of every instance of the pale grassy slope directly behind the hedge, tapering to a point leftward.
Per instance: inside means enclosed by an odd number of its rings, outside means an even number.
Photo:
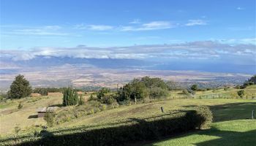
[[[165,113],[176,113],[182,110],[190,110],[197,105],[210,106],[211,110],[214,112],[214,119],[223,121],[232,118],[250,118],[251,109],[256,105],[256,101],[251,99],[173,99],[155,101],[147,104],[118,107],[113,110],[105,110],[92,115],[85,115],[81,118],[57,125],[56,128],[63,126],[68,128],[86,124],[113,123],[118,120],[129,120],[129,118],[154,116],[162,113],[160,110],[161,107],[164,108]],[[236,112],[241,107],[249,108],[243,108],[242,112],[239,112],[239,115],[236,115]],[[226,112],[224,112],[224,110],[226,110]]]

